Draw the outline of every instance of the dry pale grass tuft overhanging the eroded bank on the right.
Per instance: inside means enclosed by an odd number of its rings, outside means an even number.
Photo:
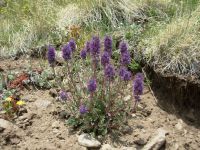
[[[154,36],[140,43],[146,61],[162,72],[196,74],[200,62],[200,6],[191,14],[174,18]],[[140,46],[141,46],[140,45]]]

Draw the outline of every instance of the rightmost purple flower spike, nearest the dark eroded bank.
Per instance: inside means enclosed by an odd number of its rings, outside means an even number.
[[[141,73],[135,75],[135,80],[133,81],[133,94],[136,101],[140,101],[140,95],[143,93],[144,89],[144,77]]]

